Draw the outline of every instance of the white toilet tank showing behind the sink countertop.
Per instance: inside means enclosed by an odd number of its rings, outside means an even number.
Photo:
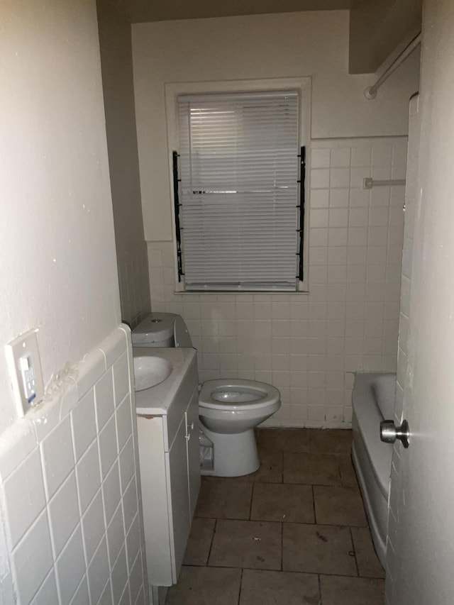
[[[133,347],[192,347],[184,319],[175,313],[150,313],[132,333]]]

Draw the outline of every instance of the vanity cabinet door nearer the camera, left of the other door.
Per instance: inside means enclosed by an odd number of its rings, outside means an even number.
[[[172,580],[177,583],[186,550],[191,520],[188,515],[189,487],[187,482],[186,415],[182,417],[175,440],[167,457],[167,489],[170,492],[170,548],[172,552]]]

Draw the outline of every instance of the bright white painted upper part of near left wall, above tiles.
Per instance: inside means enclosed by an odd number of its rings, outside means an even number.
[[[94,1],[5,0],[0,57],[0,343],[40,328],[46,383],[120,321]]]

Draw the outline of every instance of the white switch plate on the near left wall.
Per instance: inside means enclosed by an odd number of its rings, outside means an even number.
[[[38,329],[30,330],[6,345],[6,359],[19,416],[24,416],[44,396],[37,333]]]

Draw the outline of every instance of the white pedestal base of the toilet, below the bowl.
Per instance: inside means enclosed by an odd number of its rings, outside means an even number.
[[[254,429],[243,433],[212,433],[201,425],[201,431],[213,443],[213,470],[201,474],[213,477],[241,477],[260,467]]]

